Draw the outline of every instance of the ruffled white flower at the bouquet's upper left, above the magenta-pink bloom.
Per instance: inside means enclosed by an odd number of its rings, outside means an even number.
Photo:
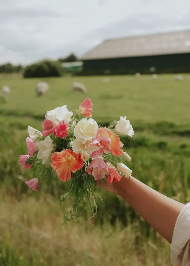
[[[68,111],[67,105],[57,107],[51,111],[48,111],[46,114],[47,119],[55,124],[61,122],[62,120],[68,124],[71,122],[71,116],[73,116],[73,112]]]

